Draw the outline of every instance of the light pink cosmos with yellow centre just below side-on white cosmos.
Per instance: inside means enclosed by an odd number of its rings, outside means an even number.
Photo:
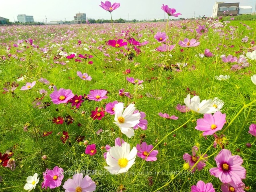
[[[196,121],[196,130],[203,131],[203,136],[212,135],[223,128],[226,122],[226,114],[220,111],[212,114],[204,114],[204,118]]]

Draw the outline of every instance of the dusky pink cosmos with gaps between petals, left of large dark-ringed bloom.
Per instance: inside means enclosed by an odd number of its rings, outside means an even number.
[[[200,171],[202,168],[204,168],[206,166],[205,162],[207,161],[207,159],[201,160],[200,162],[198,162],[198,164],[196,164],[196,166],[193,168],[193,170],[191,170],[191,168],[194,166],[194,164],[198,161],[198,159],[200,158],[200,156],[196,156],[196,152],[198,151],[198,147],[194,146],[192,147],[192,156],[188,153],[185,153],[183,155],[183,159],[186,161],[186,163],[189,164],[190,166],[190,171],[194,172],[196,169],[198,169],[198,171]],[[202,156],[202,154],[201,154]],[[204,158],[207,157],[207,154],[204,155]]]

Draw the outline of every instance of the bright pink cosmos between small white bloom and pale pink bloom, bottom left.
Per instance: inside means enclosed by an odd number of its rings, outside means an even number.
[[[55,166],[53,170],[46,170],[44,176],[44,186],[42,186],[42,188],[49,187],[50,189],[54,189],[59,187],[62,179],[64,178],[63,172],[63,169],[59,168],[58,166]]]

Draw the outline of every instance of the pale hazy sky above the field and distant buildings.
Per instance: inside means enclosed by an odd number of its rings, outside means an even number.
[[[105,1],[104,1],[105,2]],[[113,19],[125,20],[167,18],[161,9],[162,4],[175,8],[183,18],[212,15],[215,0],[110,0],[121,6],[112,12]],[[240,6],[252,6],[254,12],[256,0],[226,0],[223,2],[240,2]],[[110,19],[110,13],[98,6],[100,0],[1,0],[0,16],[14,22],[18,14],[34,16],[34,21],[74,20],[76,13],[86,13],[87,18]],[[128,17],[129,16],[129,17]]]

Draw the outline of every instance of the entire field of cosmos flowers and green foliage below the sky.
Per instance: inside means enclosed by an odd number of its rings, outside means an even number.
[[[0,192],[256,191],[255,21],[170,7],[0,26]]]

